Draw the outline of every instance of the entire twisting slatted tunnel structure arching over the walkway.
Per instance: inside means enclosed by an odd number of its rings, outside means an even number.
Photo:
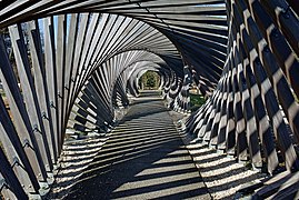
[[[269,174],[287,171],[275,192],[299,190],[298,1],[2,0],[0,8],[3,198],[42,196],[66,131],[104,134],[149,70],[173,110],[189,110],[191,82],[208,99],[186,122],[198,141]]]

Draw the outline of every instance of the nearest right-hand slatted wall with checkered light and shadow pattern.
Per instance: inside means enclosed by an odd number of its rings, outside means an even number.
[[[298,39],[291,37],[298,17],[285,1],[227,1],[227,10],[229,41],[221,78],[187,129],[271,174],[280,168],[281,151],[286,170],[298,171],[298,83],[292,78],[298,76],[292,68],[298,64]]]

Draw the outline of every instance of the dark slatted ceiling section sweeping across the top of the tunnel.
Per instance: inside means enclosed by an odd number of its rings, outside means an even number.
[[[26,8],[26,9],[23,9]],[[106,12],[129,16],[151,24],[167,36],[189,66],[205,77],[205,84],[217,83],[225,62],[227,47],[227,24],[225,1],[188,0],[180,1],[60,1],[43,0],[38,3],[12,2],[2,11],[0,23],[8,26],[20,20],[31,20],[49,14],[72,12]],[[180,17],[180,16],[188,16]],[[208,47],[208,48],[207,48]],[[198,57],[192,57],[198,49]],[[220,52],[220,53],[219,53]],[[213,61],[213,58],[216,61]],[[208,58],[208,59],[206,59]],[[217,63],[219,60],[220,62]],[[201,74],[203,73],[203,74]],[[207,80],[207,82],[206,82]]]

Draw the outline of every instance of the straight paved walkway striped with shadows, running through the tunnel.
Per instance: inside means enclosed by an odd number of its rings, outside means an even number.
[[[163,102],[143,93],[66,199],[210,199]]]

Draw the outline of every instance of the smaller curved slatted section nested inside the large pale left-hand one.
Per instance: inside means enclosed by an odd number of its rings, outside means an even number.
[[[126,88],[136,94],[138,92],[136,82],[130,81],[134,81],[139,70],[153,64],[161,70],[169,68],[160,57],[140,50],[118,53],[104,61],[86,81],[76,99],[68,128],[80,131],[106,131],[106,127],[114,121],[116,96],[124,103],[119,102],[118,106],[128,106]],[[116,90],[121,93],[116,93]]]

